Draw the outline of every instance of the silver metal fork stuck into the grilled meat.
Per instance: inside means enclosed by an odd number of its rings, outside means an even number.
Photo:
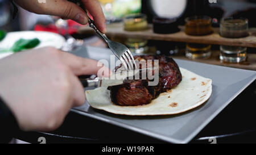
[[[79,5],[88,15],[88,12],[85,10],[83,5],[81,5],[81,2],[79,0],[69,0],[69,1]],[[135,63],[134,57],[131,54],[130,50],[125,45],[108,39],[108,37],[104,33],[101,33],[100,30],[98,30],[98,28],[96,27],[96,24],[94,23],[94,20],[92,20],[89,15],[88,15],[88,18],[89,18],[88,19],[89,27],[93,28],[96,34],[100,36],[101,39],[105,41],[106,44],[108,44],[111,51],[122,62],[125,69],[126,70],[138,69]]]

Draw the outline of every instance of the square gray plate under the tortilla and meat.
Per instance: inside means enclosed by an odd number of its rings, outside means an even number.
[[[75,55],[96,60],[110,60],[111,51],[104,48],[87,47],[74,52]],[[169,116],[123,116],[95,110],[85,103],[73,108],[73,112],[140,132],[170,143],[188,143],[221,112],[234,98],[256,79],[256,72],[175,60],[185,69],[213,80],[213,92],[209,100],[194,110]]]

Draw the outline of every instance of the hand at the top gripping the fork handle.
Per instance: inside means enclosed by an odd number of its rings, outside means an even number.
[[[80,24],[88,23],[88,16],[81,7],[67,0],[50,0],[39,3],[39,0],[14,0],[19,6],[36,14],[60,16],[63,19],[72,19]],[[106,33],[105,17],[100,3],[97,0],[81,0],[85,9],[93,16],[97,28]]]

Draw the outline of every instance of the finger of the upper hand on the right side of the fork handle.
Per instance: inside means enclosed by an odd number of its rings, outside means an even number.
[[[85,9],[93,16],[97,28],[102,33],[106,33],[106,20],[100,2],[97,0],[82,0],[82,2],[84,3]]]

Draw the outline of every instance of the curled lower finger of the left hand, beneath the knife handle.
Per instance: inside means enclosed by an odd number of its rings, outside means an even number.
[[[71,76],[71,82],[73,86],[73,105],[74,106],[82,106],[85,103],[85,93],[84,93],[84,87],[82,87],[81,82],[79,79],[75,76]]]

